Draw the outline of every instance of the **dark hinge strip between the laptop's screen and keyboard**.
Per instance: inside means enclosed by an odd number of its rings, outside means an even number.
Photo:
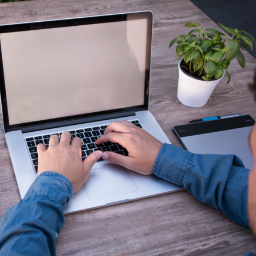
[[[35,132],[35,131],[41,131],[41,130],[46,130],[46,129],[65,127],[65,126],[69,126],[69,125],[91,123],[91,122],[95,122],[95,121],[116,119],[116,118],[121,118],[121,117],[125,117],[125,116],[135,116],[135,115],[136,115],[135,111],[128,111],[128,112],[113,113],[113,114],[107,114],[107,115],[101,115],[101,116],[85,117],[82,119],[74,119],[74,120],[69,120],[69,121],[60,121],[57,123],[40,124],[40,125],[25,127],[25,128],[21,128],[21,132],[22,133]]]

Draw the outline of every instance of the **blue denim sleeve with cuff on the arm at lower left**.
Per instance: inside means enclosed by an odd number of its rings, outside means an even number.
[[[0,255],[56,255],[63,209],[73,196],[69,179],[42,172],[0,222]]]

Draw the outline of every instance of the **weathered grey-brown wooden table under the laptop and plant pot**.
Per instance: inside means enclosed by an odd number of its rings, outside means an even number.
[[[208,103],[189,108],[176,98],[178,61],[170,41],[187,34],[183,25],[196,22],[218,29],[188,0],[38,0],[0,4],[0,23],[19,23],[89,15],[151,10],[153,21],[150,107],[168,138],[182,147],[172,132],[177,124],[201,117],[249,114],[256,105],[247,84],[256,60],[245,52],[246,68],[237,61],[229,67],[231,82],[219,82]],[[13,167],[0,123],[0,218],[20,200]],[[187,191],[70,214],[56,242],[57,255],[243,255],[256,252],[249,229],[222,212],[200,203]]]

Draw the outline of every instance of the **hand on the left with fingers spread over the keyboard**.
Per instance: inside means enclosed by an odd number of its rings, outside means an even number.
[[[71,144],[70,141],[70,132],[62,132],[61,139],[57,135],[50,137],[49,147],[37,145],[38,175],[45,171],[64,175],[73,184],[74,192],[77,192],[89,178],[90,169],[102,152],[93,152],[82,162],[81,139],[74,137]]]

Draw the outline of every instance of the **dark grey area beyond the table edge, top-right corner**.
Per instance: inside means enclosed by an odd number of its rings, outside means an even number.
[[[190,0],[215,23],[245,30],[256,38],[256,0]],[[193,22],[193,21],[191,21]],[[256,58],[256,49],[247,52]]]

